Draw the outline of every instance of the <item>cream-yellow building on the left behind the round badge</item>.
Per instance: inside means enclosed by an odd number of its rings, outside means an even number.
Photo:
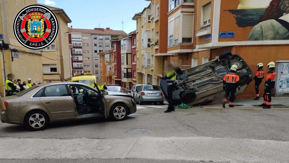
[[[30,77],[32,82],[46,82],[51,79],[55,82],[70,80],[69,44],[67,38],[67,23],[71,20],[61,8],[49,7],[57,16],[59,23],[58,36],[55,41],[45,49],[31,50],[23,47],[13,34],[13,20],[15,15],[27,5],[36,4],[36,0],[26,0],[19,3],[0,1],[0,33],[1,41],[1,67],[0,95],[5,93],[4,82],[7,74],[13,73],[23,82]],[[4,19],[5,18],[5,19]]]

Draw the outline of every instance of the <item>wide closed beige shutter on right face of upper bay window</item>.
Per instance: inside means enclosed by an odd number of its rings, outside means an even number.
[[[193,37],[193,21],[194,15],[183,15],[182,38]]]

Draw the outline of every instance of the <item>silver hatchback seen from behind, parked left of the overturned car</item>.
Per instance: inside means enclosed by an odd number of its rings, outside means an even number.
[[[160,86],[157,85],[141,85],[137,91],[136,98],[137,104],[154,103],[163,105],[163,93]]]

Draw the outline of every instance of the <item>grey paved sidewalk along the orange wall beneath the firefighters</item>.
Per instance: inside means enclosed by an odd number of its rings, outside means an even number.
[[[259,104],[262,104],[263,98],[261,97],[260,100],[253,100],[253,98],[246,98],[246,99],[238,99],[235,100],[234,108],[248,108],[248,109],[256,109],[262,108],[259,107]],[[164,104],[168,104],[168,102],[164,102]],[[196,105],[194,107],[206,107],[206,108],[222,108],[221,102],[213,102],[208,105]],[[226,104],[226,108],[229,108],[229,100]],[[271,108],[289,108],[289,97],[282,97],[282,98],[274,98],[272,97],[272,105]]]

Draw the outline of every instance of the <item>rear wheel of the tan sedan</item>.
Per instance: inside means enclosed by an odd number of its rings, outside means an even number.
[[[25,125],[31,131],[43,130],[49,123],[49,117],[44,111],[32,111],[25,116]]]

